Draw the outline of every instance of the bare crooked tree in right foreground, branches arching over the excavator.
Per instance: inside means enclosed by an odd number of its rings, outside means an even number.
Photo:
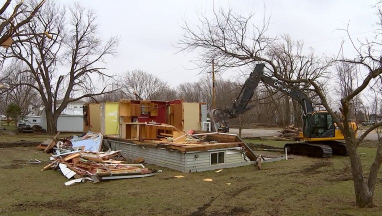
[[[382,53],[380,53],[380,50],[382,50],[382,47],[380,43],[368,41],[357,48],[358,55],[355,58],[342,57],[339,59],[341,62],[354,63],[367,72],[366,75],[362,76],[363,80],[359,84],[357,83],[352,91],[341,97],[340,110],[342,110],[343,115],[343,119],[341,119],[334,112],[334,109],[329,106],[330,100],[325,95],[323,83],[326,80],[320,79],[320,77],[328,75],[330,63],[314,66],[311,75],[285,78],[274,59],[266,55],[266,52],[273,48],[272,44],[276,41],[274,37],[265,35],[267,22],[264,22],[265,25],[262,27],[257,27],[254,24],[250,25],[250,23],[254,23],[250,20],[251,16],[246,18],[234,14],[231,10],[225,12],[220,9],[214,11],[214,14],[213,19],[204,16],[200,17],[201,26],[195,29],[192,29],[189,23],[183,25],[184,34],[179,41],[179,45],[182,47],[181,50],[193,51],[197,49],[198,53],[200,53],[199,59],[202,59],[200,66],[205,66],[203,62],[212,58],[219,59],[219,66],[222,68],[262,62],[265,63],[274,77],[288,83],[304,85],[309,88],[309,91],[313,91],[319,97],[320,105],[330,113],[334,122],[344,134],[351,163],[356,204],[360,207],[374,206],[372,198],[377,180],[376,175],[382,163],[382,143],[379,142],[376,148],[376,156],[370,166],[368,177],[364,176],[362,163],[357,154],[357,147],[367,133],[376,127],[382,126],[382,123],[375,124],[357,137],[356,131],[349,125],[349,108],[351,100],[356,95],[360,94],[367,86],[381,80],[380,56],[382,56]],[[381,11],[379,15],[382,26]],[[382,34],[377,36],[382,36]],[[302,73],[306,72],[302,71]]]

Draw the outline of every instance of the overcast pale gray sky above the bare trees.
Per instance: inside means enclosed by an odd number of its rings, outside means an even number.
[[[172,86],[196,81],[198,69],[190,63],[192,53],[177,53],[183,19],[197,22],[198,12],[210,13],[216,7],[232,8],[243,15],[255,13],[256,19],[270,17],[268,35],[288,33],[303,40],[316,54],[338,52],[349,23],[354,38],[370,36],[375,15],[375,0],[81,0],[98,14],[99,32],[107,38],[120,36],[119,55],[108,59],[110,73],[142,69]],[[265,12],[265,14],[264,14]],[[261,24],[261,23],[260,23]],[[349,52],[350,54],[350,52]],[[224,77],[234,71],[225,72]]]

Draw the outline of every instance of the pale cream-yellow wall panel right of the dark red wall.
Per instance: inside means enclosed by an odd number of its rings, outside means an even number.
[[[200,105],[197,102],[183,102],[183,130],[200,130]]]

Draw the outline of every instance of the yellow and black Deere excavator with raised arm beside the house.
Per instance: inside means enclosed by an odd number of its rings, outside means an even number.
[[[314,111],[309,97],[298,88],[274,77],[264,75],[264,66],[263,63],[255,65],[231,108],[215,108],[209,112],[212,130],[218,131],[218,125],[222,121],[237,117],[253,107],[253,104],[248,105],[248,103],[258,83],[262,81],[264,84],[295,99],[302,107],[303,128],[298,135],[303,141],[286,143],[284,149],[286,149],[287,153],[311,157],[330,157],[333,154],[347,155],[346,145],[341,142],[344,139],[343,134],[334,123],[331,115],[327,111]],[[349,124],[354,130],[356,129],[354,122]]]

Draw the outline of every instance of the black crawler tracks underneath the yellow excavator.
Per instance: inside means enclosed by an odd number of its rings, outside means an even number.
[[[347,148],[342,142],[330,141],[324,144],[309,142],[286,143],[284,149],[289,154],[306,155],[311,157],[330,157],[331,155],[346,156]]]

